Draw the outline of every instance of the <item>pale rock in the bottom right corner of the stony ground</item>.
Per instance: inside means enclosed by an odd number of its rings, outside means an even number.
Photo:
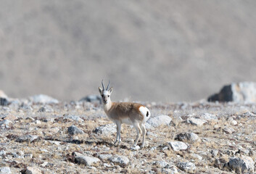
[[[254,172],[254,161],[251,157],[231,157],[228,162],[228,167],[231,170],[235,170],[236,173],[248,173]]]

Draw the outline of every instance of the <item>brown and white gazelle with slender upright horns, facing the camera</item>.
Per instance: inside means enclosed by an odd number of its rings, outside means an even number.
[[[107,85],[107,88],[105,89],[102,80],[102,88],[99,87],[99,93],[102,96],[104,112],[106,112],[107,117],[109,117],[110,120],[112,120],[112,122],[114,122],[117,125],[117,138],[114,144],[120,144],[121,125],[125,123],[128,125],[133,125],[133,127],[136,128],[137,136],[133,144],[134,147],[137,145],[142,133],[143,138],[141,148],[143,148],[146,136],[145,123],[146,120],[148,120],[151,115],[149,109],[144,107],[142,104],[138,103],[112,102],[110,100],[110,95],[113,91],[113,88],[108,89],[109,86],[110,82]]]

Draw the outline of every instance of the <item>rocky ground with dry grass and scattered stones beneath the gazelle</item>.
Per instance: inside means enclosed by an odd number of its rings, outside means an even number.
[[[255,172],[255,104],[142,104],[152,118],[139,149],[130,125],[113,145],[115,125],[97,102],[2,99],[0,173]]]

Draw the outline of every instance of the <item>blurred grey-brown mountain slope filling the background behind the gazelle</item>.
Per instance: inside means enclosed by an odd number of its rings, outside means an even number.
[[[0,88],[193,101],[256,81],[256,1],[2,1]]]

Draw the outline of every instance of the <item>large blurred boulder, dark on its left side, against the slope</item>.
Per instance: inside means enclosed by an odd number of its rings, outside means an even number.
[[[218,94],[209,96],[208,101],[256,102],[256,83],[240,82],[223,86]]]

